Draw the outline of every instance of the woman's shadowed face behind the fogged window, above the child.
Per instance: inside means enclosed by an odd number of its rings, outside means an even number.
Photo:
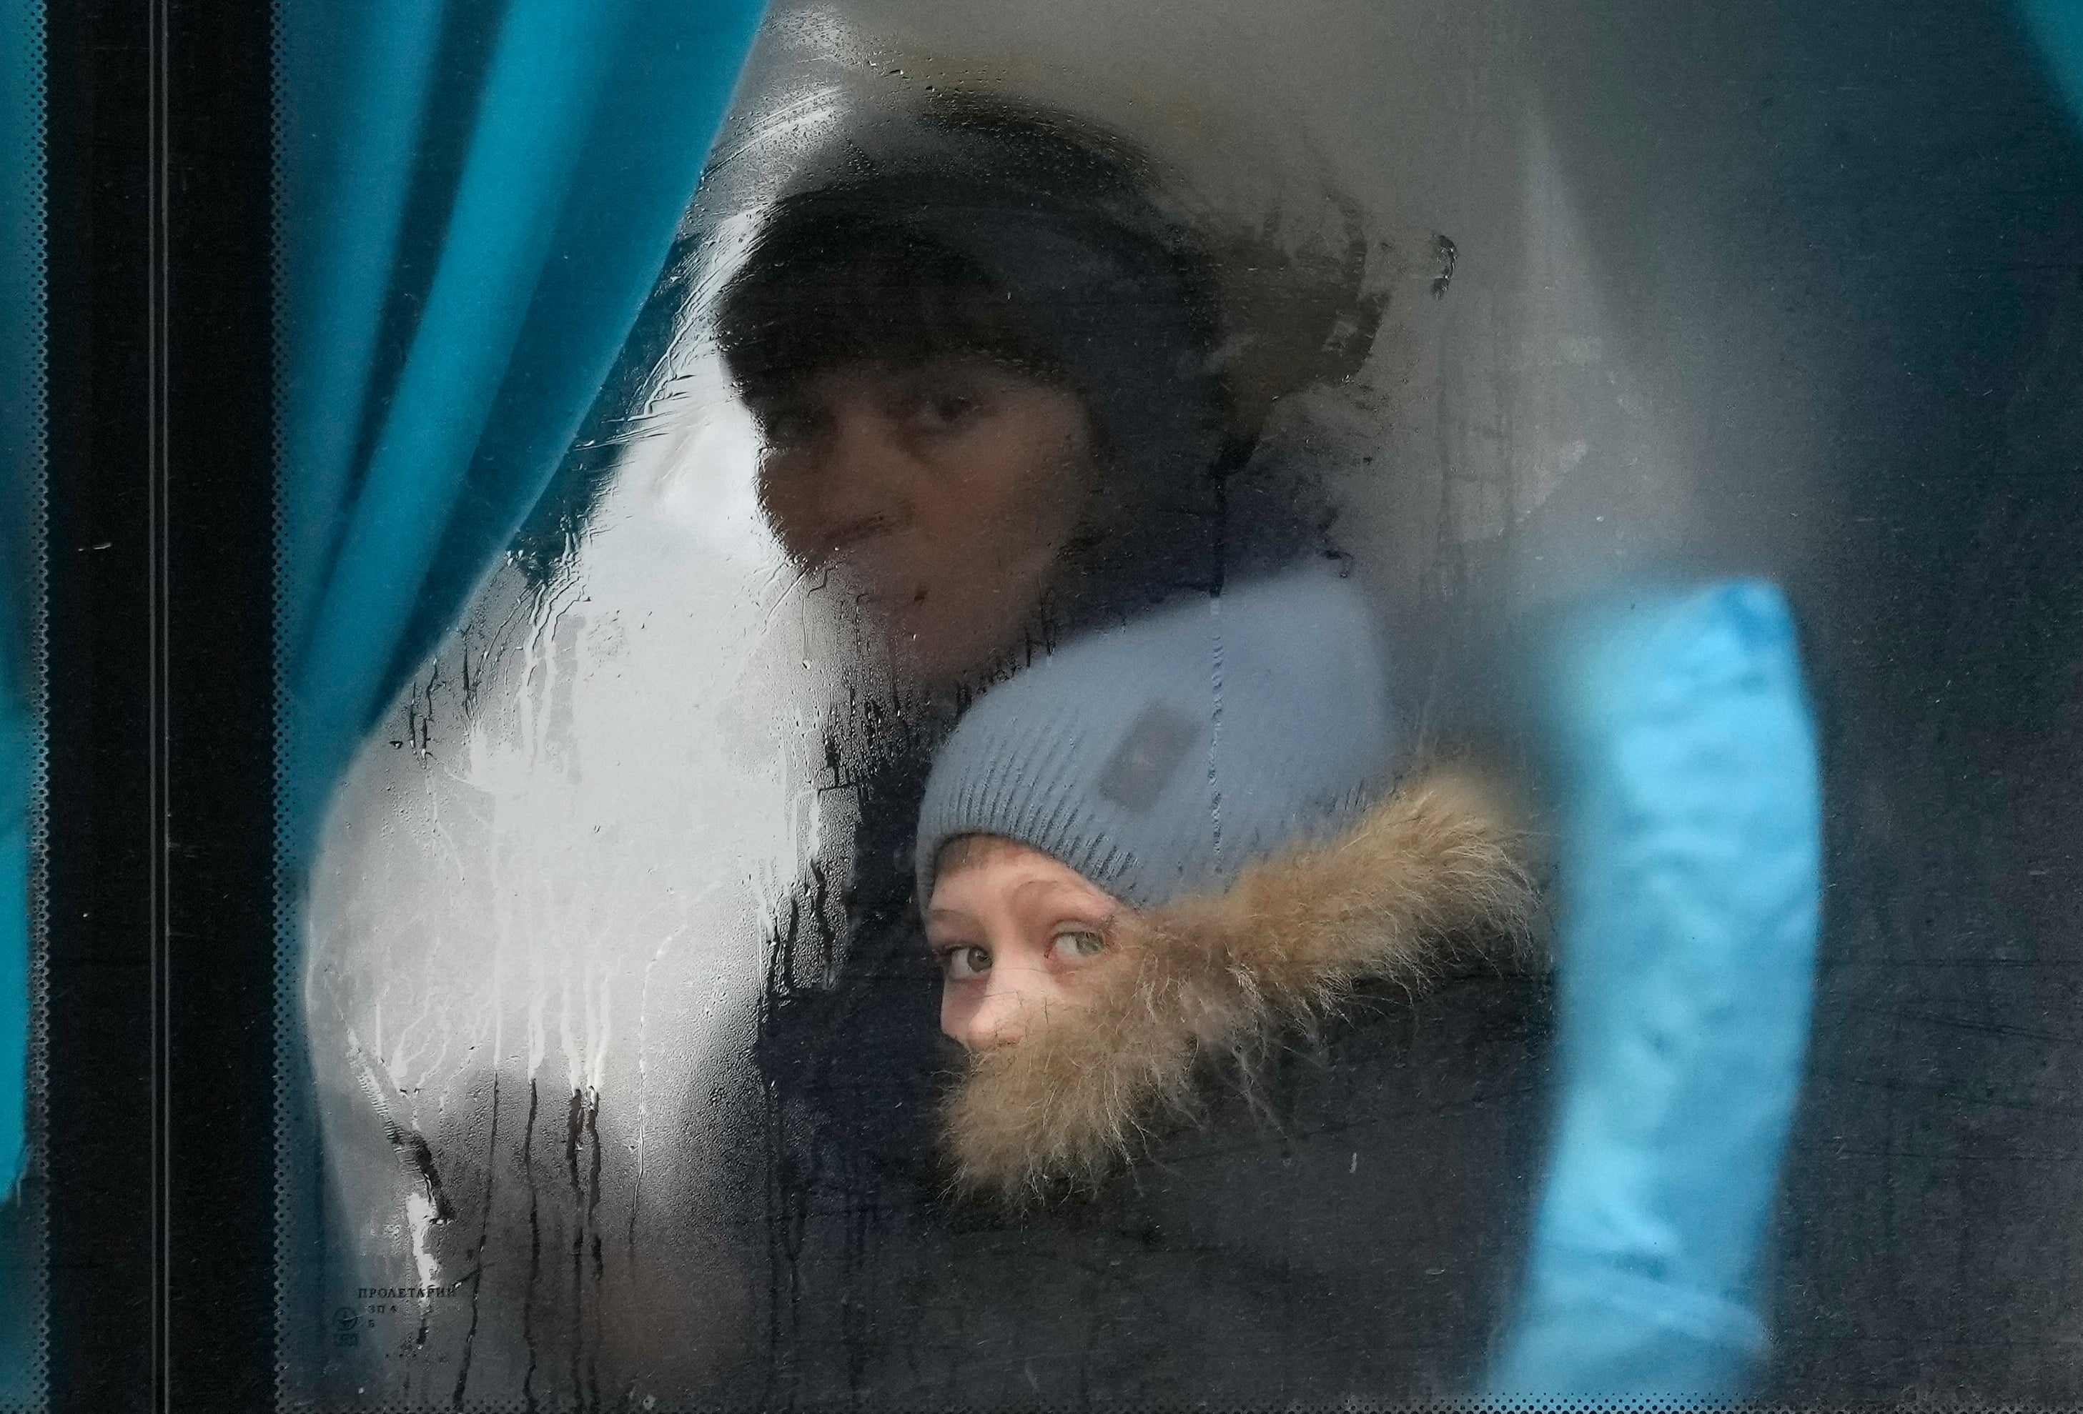
[[[837,364],[754,414],[781,544],[837,571],[929,681],[1019,639],[1098,481],[1079,396],[985,358]]]

